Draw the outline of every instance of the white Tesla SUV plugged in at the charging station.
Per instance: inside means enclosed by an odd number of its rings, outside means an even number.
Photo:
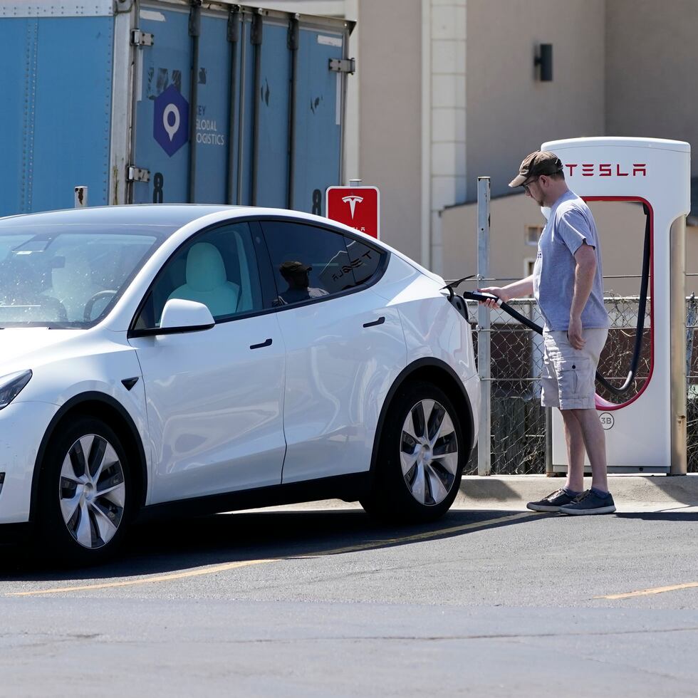
[[[0,533],[90,563],[172,509],[340,498],[441,516],[479,403],[443,286],[298,212],[0,219]]]

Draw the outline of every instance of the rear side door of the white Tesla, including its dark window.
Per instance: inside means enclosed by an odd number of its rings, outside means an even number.
[[[365,283],[385,252],[319,226],[261,226],[287,357],[282,481],[365,471],[382,403],[407,360],[397,309]]]

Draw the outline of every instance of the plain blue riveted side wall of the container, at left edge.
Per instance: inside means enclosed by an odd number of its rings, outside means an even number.
[[[78,184],[107,202],[113,22],[0,21],[0,216],[71,208]]]

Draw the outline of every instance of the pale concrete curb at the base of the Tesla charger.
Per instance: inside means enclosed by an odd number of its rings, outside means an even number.
[[[526,507],[527,501],[541,499],[563,486],[561,477],[545,475],[477,475],[464,476],[459,504],[477,509]],[[585,478],[585,487],[591,479]],[[668,475],[609,475],[608,486],[616,505],[627,506],[698,506],[698,473]]]

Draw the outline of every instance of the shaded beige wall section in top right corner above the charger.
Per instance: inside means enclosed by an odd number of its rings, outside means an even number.
[[[608,135],[685,140],[696,149],[697,27],[696,0],[607,0]]]

